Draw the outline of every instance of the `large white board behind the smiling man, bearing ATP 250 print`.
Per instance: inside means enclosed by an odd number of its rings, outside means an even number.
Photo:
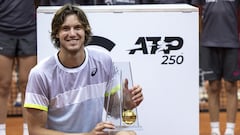
[[[57,51],[50,41],[50,26],[58,8],[38,8],[38,61]],[[110,53],[114,61],[130,61],[133,81],[143,87],[144,101],[138,107],[143,130],[138,135],[199,135],[197,8],[185,4],[82,8],[93,35],[115,44],[110,51],[94,47]]]

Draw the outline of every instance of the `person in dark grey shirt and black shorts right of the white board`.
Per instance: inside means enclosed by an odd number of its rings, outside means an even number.
[[[211,135],[220,135],[219,111],[222,86],[226,91],[227,123],[224,135],[234,135],[237,115],[239,0],[192,0],[200,9],[200,68],[207,72]],[[222,85],[224,80],[224,85]]]

